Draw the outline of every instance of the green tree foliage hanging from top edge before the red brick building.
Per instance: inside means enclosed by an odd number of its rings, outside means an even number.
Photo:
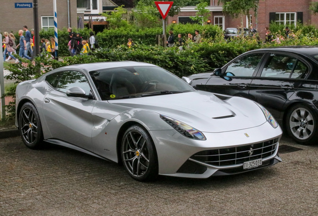
[[[231,16],[247,15],[250,23],[249,10],[254,10],[254,16],[257,17],[257,8],[259,0],[218,0],[217,4],[223,4],[223,11]],[[241,19],[241,25],[243,20]]]

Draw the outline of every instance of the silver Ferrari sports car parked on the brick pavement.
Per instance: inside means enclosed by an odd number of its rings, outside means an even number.
[[[54,69],[16,87],[24,144],[43,141],[122,163],[135,180],[207,178],[281,161],[281,129],[260,104],[196,91],[153,64]],[[40,153],[40,152],[38,152]]]

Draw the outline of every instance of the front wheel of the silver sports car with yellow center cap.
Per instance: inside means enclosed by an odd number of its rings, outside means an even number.
[[[133,179],[150,181],[157,177],[158,162],[154,144],[142,127],[130,126],[123,135],[120,149],[122,164]]]

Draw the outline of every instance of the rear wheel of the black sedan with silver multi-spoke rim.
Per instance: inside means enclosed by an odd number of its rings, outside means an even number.
[[[307,105],[292,106],[285,125],[288,135],[300,144],[313,144],[318,135],[316,114]]]

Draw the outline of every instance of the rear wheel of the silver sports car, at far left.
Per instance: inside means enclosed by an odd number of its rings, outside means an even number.
[[[40,146],[43,141],[42,126],[38,112],[32,103],[26,102],[22,105],[18,128],[22,141],[27,147],[36,149]]]

